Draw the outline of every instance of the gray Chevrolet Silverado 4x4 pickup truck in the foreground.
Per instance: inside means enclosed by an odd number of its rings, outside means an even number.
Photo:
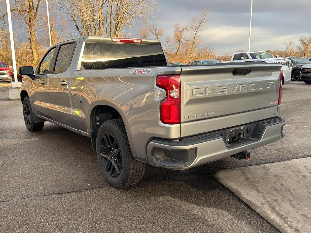
[[[169,66],[157,40],[80,37],[20,67],[28,130],[45,121],[91,138],[115,187],[145,165],[188,169],[282,137],[281,64]]]

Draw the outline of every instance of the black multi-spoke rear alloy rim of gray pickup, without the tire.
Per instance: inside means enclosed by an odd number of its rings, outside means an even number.
[[[101,139],[100,156],[109,176],[118,177],[122,169],[121,149],[117,139],[110,133],[105,133]]]

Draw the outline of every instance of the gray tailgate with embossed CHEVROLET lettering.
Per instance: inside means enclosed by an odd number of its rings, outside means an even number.
[[[181,136],[276,117],[280,64],[182,66]]]

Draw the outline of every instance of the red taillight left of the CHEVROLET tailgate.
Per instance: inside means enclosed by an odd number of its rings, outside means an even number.
[[[180,124],[179,75],[160,75],[156,79],[156,85],[166,92],[166,98],[160,103],[160,120],[165,124]]]

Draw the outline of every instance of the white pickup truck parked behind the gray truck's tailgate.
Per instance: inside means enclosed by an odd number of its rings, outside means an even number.
[[[232,54],[231,62],[243,62],[243,61],[264,61],[267,63],[280,63],[282,64],[281,70],[283,71],[282,85],[290,83],[292,62],[288,58],[276,58],[272,54],[266,51],[255,51],[255,52],[238,52]]]

